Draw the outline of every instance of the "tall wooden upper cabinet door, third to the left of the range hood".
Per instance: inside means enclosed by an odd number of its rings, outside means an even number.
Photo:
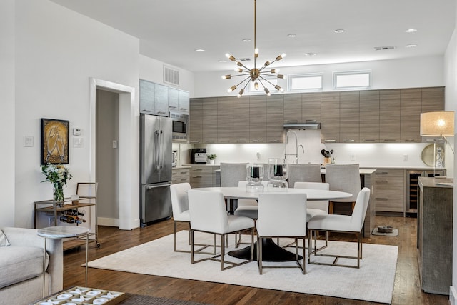
[[[233,143],[249,143],[249,96],[233,99]]]

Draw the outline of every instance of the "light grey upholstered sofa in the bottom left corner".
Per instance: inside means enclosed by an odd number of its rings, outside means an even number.
[[[36,229],[0,229],[9,241],[0,246],[0,300],[22,305],[41,299],[44,238]],[[46,296],[62,290],[63,256],[62,240],[46,239]]]

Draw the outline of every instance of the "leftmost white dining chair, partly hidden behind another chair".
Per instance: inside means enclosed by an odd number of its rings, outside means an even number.
[[[171,209],[173,211],[173,224],[174,224],[174,251],[175,252],[185,252],[191,253],[189,250],[178,250],[176,246],[176,229],[179,222],[188,224],[189,226],[189,245],[191,244],[191,218],[189,214],[189,201],[187,199],[187,191],[191,189],[191,185],[187,182],[179,184],[171,184],[170,186],[170,195],[171,195]],[[213,246],[213,254],[216,254],[216,236],[214,235],[214,240],[212,245],[199,244],[203,246],[199,251],[203,250],[208,246]]]

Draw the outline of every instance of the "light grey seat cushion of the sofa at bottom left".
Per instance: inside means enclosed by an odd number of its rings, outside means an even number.
[[[49,255],[46,254],[46,269]],[[0,247],[0,289],[43,274],[43,249],[35,246]]]

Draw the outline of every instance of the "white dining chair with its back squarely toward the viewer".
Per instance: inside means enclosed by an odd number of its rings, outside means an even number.
[[[306,194],[293,193],[261,193],[258,194],[257,229],[257,261],[258,272],[264,268],[300,268],[306,274],[305,247],[302,247],[303,261],[298,259],[298,239],[306,238]],[[263,266],[262,241],[266,238],[295,239],[295,257],[297,266],[266,265]]]

